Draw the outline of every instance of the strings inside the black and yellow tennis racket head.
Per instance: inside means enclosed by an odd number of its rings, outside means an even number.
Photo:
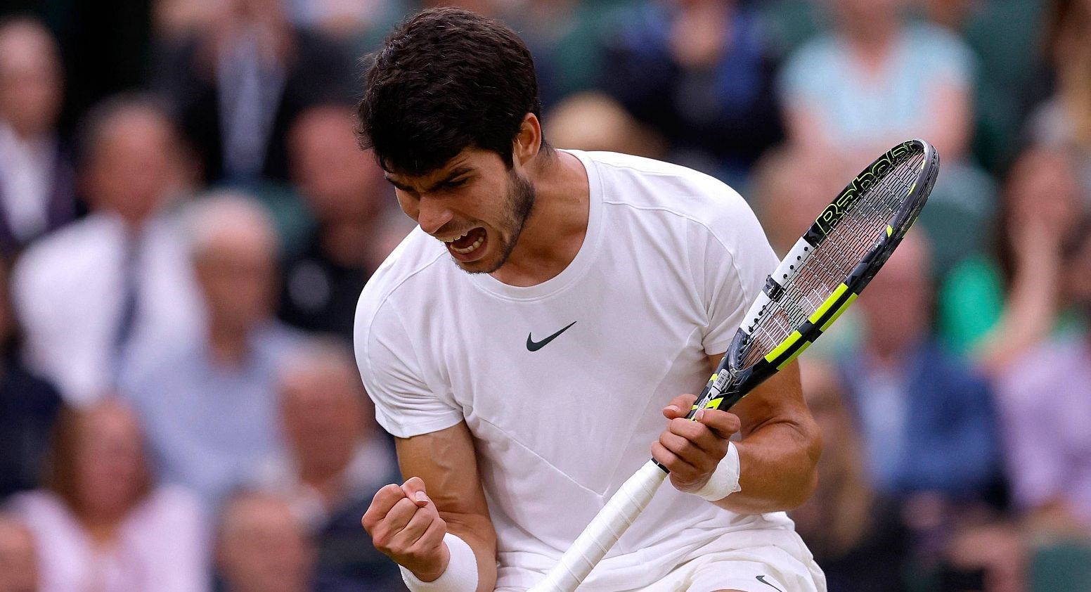
[[[909,197],[924,161],[923,153],[898,161],[863,191],[814,253],[787,279],[746,342],[742,366],[757,363],[798,329],[841,285],[886,233],[890,219]]]

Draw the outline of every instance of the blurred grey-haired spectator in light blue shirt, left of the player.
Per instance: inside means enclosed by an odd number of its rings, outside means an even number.
[[[273,451],[276,369],[298,337],[272,316],[276,237],[261,205],[220,194],[188,214],[205,337],[171,343],[123,390],[147,427],[163,478],[215,510]]]

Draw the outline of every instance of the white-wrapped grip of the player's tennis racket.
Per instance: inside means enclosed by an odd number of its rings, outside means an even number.
[[[648,507],[667,471],[649,460],[613,494],[546,579],[528,592],[573,592]]]

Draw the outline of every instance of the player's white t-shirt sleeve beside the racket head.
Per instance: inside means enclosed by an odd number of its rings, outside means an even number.
[[[690,265],[707,315],[702,346],[711,355],[727,351],[780,259],[754,212],[734,190],[717,188],[709,208],[704,220],[691,225]]]

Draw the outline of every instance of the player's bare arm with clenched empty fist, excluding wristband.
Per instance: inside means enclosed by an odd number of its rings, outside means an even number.
[[[491,591],[496,585],[496,533],[489,518],[473,438],[466,423],[397,438],[396,447],[406,483],[380,490],[363,517],[375,547],[420,580],[433,581],[443,575],[451,560],[442,541],[443,534],[449,532],[473,549],[478,591]],[[413,503],[416,493],[422,491],[427,492],[427,502]],[[422,534],[407,535],[413,528]]]

